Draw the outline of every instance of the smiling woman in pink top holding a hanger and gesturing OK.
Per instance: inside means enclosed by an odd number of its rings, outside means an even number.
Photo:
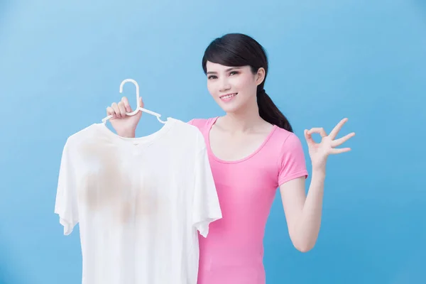
[[[262,46],[248,35],[224,35],[207,47],[202,67],[209,93],[226,114],[189,122],[204,135],[223,215],[210,224],[207,238],[200,237],[198,283],[263,284],[263,233],[275,190],[280,188],[293,245],[309,251],[320,231],[327,156],[349,151],[334,147],[354,133],[336,139],[346,119],[329,134],[305,130],[312,160],[305,196],[302,144],[263,89],[268,59]],[[134,137],[141,112],[126,116],[126,111],[132,111],[126,97],[107,108],[117,134]],[[321,143],[312,133],[320,133]]]

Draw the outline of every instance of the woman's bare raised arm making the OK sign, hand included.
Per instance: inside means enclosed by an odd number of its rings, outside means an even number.
[[[310,251],[318,239],[328,156],[351,151],[351,148],[336,148],[355,135],[352,132],[336,139],[347,120],[339,121],[328,135],[324,129],[318,127],[305,130],[305,138],[312,162],[312,179],[307,196],[305,196],[305,177],[289,180],[280,185],[290,239],[299,251]],[[320,134],[320,143],[316,143],[312,139],[313,133]]]

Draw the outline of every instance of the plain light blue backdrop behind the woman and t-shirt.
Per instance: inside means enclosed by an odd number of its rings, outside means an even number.
[[[268,51],[266,91],[305,151],[305,128],[347,116],[341,134],[356,132],[329,158],[312,251],[293,248],[277,193],[267,283],[426,283],[420,0],[0,1],[0,283],[80,283],[79,231],[63,236],[53,214],[67,137],[101,121],[127,78],[163,116],[222,115],[201,58],[229,32]],[[134,107],[131,84],[124,95]],[[146,114],[137,135],[160,126]]]

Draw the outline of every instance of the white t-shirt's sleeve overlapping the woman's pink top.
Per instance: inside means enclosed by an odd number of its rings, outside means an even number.
[[[198,151],[195,160],[195,182],[192,203],[192,224],[207,237],[209,224],[222,218],[216,187],[214,185],[212,170],[209,164],[204,138],[198,140],[202,143],[202,149]]]

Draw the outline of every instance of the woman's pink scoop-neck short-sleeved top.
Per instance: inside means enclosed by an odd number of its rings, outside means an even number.
[[[305,176],[305,155],[294,133],[273,126],[262,145],[241,160],[217,158],[209,131],[217,117],[192,119],[207,144],[222,219],[200,236],[198,284],[264,284],[263,234],[277,188]]]

